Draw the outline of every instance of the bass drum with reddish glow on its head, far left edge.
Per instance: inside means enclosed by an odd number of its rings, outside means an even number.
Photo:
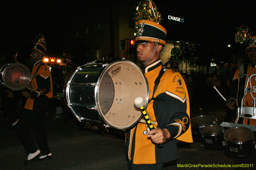
[[[1,68],[0,73],[1,84],[11,90],[24,89],[29,85],[31,80],[30,71],[21,63],[5,64]]]

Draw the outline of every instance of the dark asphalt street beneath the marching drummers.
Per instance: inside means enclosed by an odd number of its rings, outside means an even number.
[[[226,116],[225,103],[191,104],[191,118],[214,115],[218,122]],[[60,114],[50,115],[45,128],[52,159],[36,161],[24,166],[25,153],[20,141],[0,112],[0,169],[1,170],[128,170],[125,155],[124,131],[108,129],[104,133],[94,127],[74,121],[74,117]],[[33,134],[33,133],[32,133]],[[147,154],[147,153],[145,153]],[[180,167],[180,165],[233,165],[233,159],[222,147],[210,149],[201,141],[178,144],[178,160],[164,164],[163,170],[229,170],[232,167]],[[256,166],[256,163],[254,163]]]

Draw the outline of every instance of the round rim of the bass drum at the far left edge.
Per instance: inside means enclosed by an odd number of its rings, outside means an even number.
[[[24,64],[22,64],[22,63],[6,63],[3,67],[1,67],[1,69],[0,69],[0,72],[1,72],[1,79],[2,79],[2,82],[1,82],[1,84],[2,85],[4,85],[5,87],[7,87],[8,89],[11,89],[11,90],[14,90],[14,91],[19,91],[19,90],[21,90],[21,88],[20,87],[17,87],[17,88],[12,88],[12,87],[10,87],[9,85],[6,85],[7,84],[7,82],[5,81],[5,79],[2,77],[3,75],[4,75],[4,73],[6,72],[6,68],[8,67],[8,66],[11,66],[11,65],[18,65],[18,66],[22,66],[26,71],[27,71],[27,73],[28,73],[28,76],[29,76],[29,81],[25,84],[25,85],[23,85],[22,86],[22,88],[24,89],[24,88],[26,88],[26,87],[28,87],[28,85],[30,84],[30,82],[31,82],[31,72],[30,72],[30,70],[24,65]],[[3,70],[2,70],[3,69]]]

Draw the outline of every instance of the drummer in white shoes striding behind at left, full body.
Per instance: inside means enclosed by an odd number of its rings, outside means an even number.
[[[31,72],[31,87],[29,91],[22,92],[27,98],[22,117],[13,126],[28,154],[25,165],[43,159],[51,159],[51,151],[48,146],[44,129],[43,113],[48,109],[49,98],[52,98],[52,77],[49,67],[44,63],[46,53],[43,35],[35,43],[31,52],[31,59],[34,67]],[[33,128],[36,143],[30,135],[30,128]],[[38,148],[37,148],[38,146]]]

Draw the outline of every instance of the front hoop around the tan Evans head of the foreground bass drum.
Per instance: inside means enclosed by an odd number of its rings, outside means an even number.
[[[136,66],[142,73],[143,73],[143,71],[141,70],[141,68],[138,66],[138,64],[136,64],[136,63],[134,63],[133,61],[130,61],[130,60],[117,60],[117,61],[114,61],[114,62],[112,62],[112,63],[109,63],[101,72],[100,72],[100,76],[99,76],[99,78],[98,78],[98,80],[97,80],[97,84],[96,84],[96,86],[95,86],[95,91],[94,91],[94,96],[95,96],[95,104],[96,104],[96,108],[98,108],[97,109],[97,111],[98,111],[98,113],[99,113],[99,115],[100,115],[100,117],[101,117],[101,119],[105,122],[105,123],[107,123],[108,121],[104,118],[104,116],[102,116],[101,115],[101,113],[100,113],[100,106],[99,106],[99,101],[98,101],[98,89],[99,89],[99,85],[100,85],[100,80],[101,80],[101,78],[103,77],[103,75],[106,73],[106,71],[108,70],[108,68],[110,67],[110,66],[112,66],[113,64],[115,64],[115,63],[119,63],[119,62],[127,62],[127,63],[132,63],[132,64],[134,64],[134,66]],[[146,77],[144,76],[144,78],[145,78],[145,82],[146,82],[146,88],[147,88],[147,99],[146,99],[146,104],[145,104],[145,110],[147,109],[147,106],[148,106],[148,99],[149,99],[149,94],[148,94],[148,91],[149,91],[149,87],[148,87],[148,81],[147,81],[147,79],[146,79]],[[140,118],[142,117],[142,114],[141,114],[141,116],[140,116]],[[140,118],[134,123],[134,124],[136,124],[137,122],[139,122],[140,121]],[[108,123],[107,123],[108,124]],[[109,125],[108,124],[108,126],[111,126],[111,125]],[[116,128],[116,127],[113,127],[113,128]],[[126,127],[125,129],[128,129],[129,127]]]

